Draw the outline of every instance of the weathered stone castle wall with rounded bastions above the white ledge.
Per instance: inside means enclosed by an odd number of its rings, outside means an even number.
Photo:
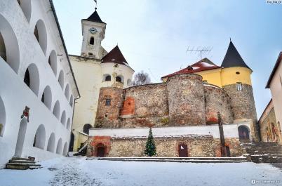
[[[105,105],[107,98],[111,105]],[[95,128],[217,124],[217,112],[225,124],[235,119],[256,122],[252,87],[243,84],[243,91],[237,91],[236,84],[219,88],[203,84],[197,74],[180,74],[163,84],[101,88]]]

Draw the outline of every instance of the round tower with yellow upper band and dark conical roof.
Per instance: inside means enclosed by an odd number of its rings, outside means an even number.
[[[250,79],[253,71],[243,61],[232,41],[221,66],[222,88],[231,98],[234,120],[252,119],[253,125],[248,130],[252,131],[254,139],[258,139],[257,112]]]

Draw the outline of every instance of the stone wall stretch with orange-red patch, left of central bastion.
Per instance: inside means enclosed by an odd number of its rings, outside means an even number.
[[[133,86],[123,93],[121,127],[168,126],[166,84]]]

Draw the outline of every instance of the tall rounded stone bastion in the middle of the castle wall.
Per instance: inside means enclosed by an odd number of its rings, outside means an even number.
[[[202,77],[180,74],[167,81],[170,124],[174,126],[206,124]]]

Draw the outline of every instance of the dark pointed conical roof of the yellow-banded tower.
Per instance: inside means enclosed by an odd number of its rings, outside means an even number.
[[[243,58],[241,57],[241,55],[239,54],[239,52],[235,48],[232,41],[230,41],[230,43],[229,43],[227,53],[225,54],[225,57],[224,57],[224,60],[223,60],[221,66],[224,67],[224,68],[246,67],[246,68],[250,69],[250,67],[248,67],[248,65],[246,65],[246,63],[244,62]],[[250,70],[252,70],[252,69],[250,69]]]

